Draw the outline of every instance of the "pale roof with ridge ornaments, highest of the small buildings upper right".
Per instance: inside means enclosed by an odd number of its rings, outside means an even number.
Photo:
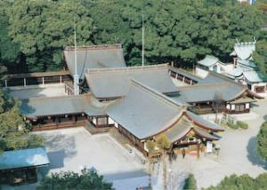
[[[237,43],[234,45],[234,51],[230,55],[238,56],[239,59],[249,59],[255,51],[255,42]]]

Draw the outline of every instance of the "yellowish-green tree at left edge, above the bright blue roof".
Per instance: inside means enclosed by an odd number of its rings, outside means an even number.
[[[0,152],[43,146],[43,139],[28,135],[27,123],[20,115],[20,102],[0,88]]]

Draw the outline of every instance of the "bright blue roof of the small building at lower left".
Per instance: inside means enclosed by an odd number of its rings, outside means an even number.
[[[44,147],[4,151],[0,156],[0,170],[40,167],[49,163]]]

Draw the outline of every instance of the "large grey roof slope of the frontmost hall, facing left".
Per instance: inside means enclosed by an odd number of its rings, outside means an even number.
[[[165,95],[133,80],[127,95],[108,107],[107,114],[138,139],[145,139],[175,123],[182,110]]]

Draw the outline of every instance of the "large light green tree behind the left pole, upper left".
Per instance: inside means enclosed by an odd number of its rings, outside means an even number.
[[[60,70],[62,50],[77,44],[91,44],[93,20],[81,1],[14,1],[9,9],[10,36],[20,44],[29,71]]]

